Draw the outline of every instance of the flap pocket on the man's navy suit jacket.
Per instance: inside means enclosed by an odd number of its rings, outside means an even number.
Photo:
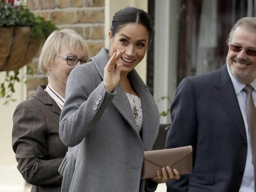
[[[209,172],[194,172],[191,175],[190,181],[193,181],[195,183],[200,183],[204,185],[213,185],[215,179],[214,173]]]

